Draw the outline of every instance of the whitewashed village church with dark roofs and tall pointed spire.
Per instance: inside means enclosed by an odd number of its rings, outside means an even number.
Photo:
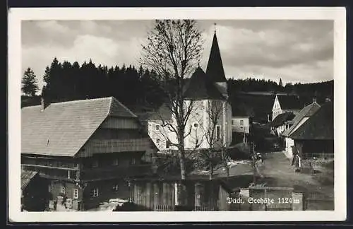
[[[232,142],[232,107],[227,101],[227,80],[223,69],[217,35],[213,43],[206,71],[200,66],[193,72],[184,90],[186,105],[192,110],[186,122],[184,146],[193,148],[227,147]],[[159,151],[175,150],[176,134],[163,122],[176,123],[167,107],[160,107],[145,121],[148,134]]]

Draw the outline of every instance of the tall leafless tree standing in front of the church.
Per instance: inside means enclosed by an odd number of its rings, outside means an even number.
[[[172,119],[161,119],[162,127],[175,134],[167,141],[179,152],[181,180],[186,179],[184,139],[186,124],[193,108],[193,101],[185,100],[185,79],[191,75],[203,50],[201,32],[195,20],[156,20],[143,45],[141,64],[157,73],[157,80],[164,91],[165,105]]]

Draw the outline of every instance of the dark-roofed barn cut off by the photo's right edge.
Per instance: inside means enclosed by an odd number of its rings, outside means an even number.
[[[302,159],[333,158],[333,135],[333,102],[326,102],[289,138],[294,140],[294,153]]]

